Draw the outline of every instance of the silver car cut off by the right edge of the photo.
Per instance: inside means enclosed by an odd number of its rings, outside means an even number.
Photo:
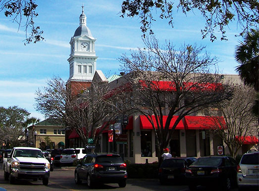
[[[237,184],[239,190],[259,187],[259,151],[243,154],[237,166]]]

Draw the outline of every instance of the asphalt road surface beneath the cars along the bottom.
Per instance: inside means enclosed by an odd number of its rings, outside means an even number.
[[[51,172],[48,186],[44,186],[42,181],[19,180],[14,185],[10,185],[3,179],[2,163],[0,163],[0,187],[7,191],[84,191],[90,190],[86,183],[76,185],[74,182],[75,167],[55,167]],[[92,189],[93,190],[93,189]],[[128,179],[125,188],[119,188],[117,184],[98,185],[94,190],[114,190],[114,191],[189,191],[186,185],[160,185],[157,179]],[[233,189],[231,191],[237,191]],[[198,191],[207,191],[206,187],[198,187]]]

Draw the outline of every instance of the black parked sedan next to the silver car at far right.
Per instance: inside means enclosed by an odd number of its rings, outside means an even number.
[[[207,156],[198,158],[186,169],[186,181],[191,191],[198,185],[230,190],[236,185],[237,162],[229,156]]]

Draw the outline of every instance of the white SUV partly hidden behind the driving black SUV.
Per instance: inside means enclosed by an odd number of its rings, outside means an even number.
[[[85,148],[66,148],[60,155],[59,163],[62,164],[73,164],[77,159],[81,159],[86,155]]]

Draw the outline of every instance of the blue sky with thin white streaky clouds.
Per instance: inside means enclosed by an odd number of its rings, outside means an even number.
[[[69,41],[79,26],[82,4],[85,6],[87,26],[96,41],[97,69],[104,74],[119,74],[118,58],[130,54],[130,49],[143,48],[140,19],[121,18],[122,0],[36,0],[39,16],[36,25],[44,30],[45,40],[24,46],[25,32],[0,12],[0,106],[17,105],[27,109],[31,116],[44,119],[35,110],[35,92],[46,86],[47,80],[59,76],[68,79],[70,53]],[[157,19],[153,23],[156,38],[161,44],[170,40],[175,47],[182,44],[205,45],[211,56],[217,56],[218,67],[223,74],[236,74],[238,65],[234,51],[240,37],[237,24],[227,29],[228,41],[202,39],[201,29],[205,26],[199,12],[174,12],[174,28],[168,21]],[[217,33],[220,39],[220,33]]]

